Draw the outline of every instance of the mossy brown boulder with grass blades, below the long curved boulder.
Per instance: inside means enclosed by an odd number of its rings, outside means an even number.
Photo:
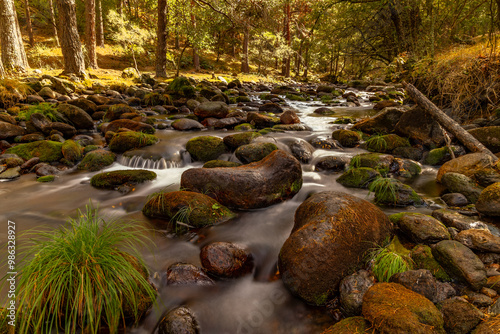
[[[235,216],[228,208],[213,198],[192,192],[173,191],[150,196],[142,208],[149,218],[158,218],[168,227],[176,220],[193,228],[212,226],[225,222]]]

